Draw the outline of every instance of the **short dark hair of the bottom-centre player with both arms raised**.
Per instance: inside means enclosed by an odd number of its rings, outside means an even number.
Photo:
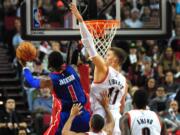
[[[91,127],[93,132],[98,133],[104,127],[104,118],[99,114],[94,114],[91,119]]]

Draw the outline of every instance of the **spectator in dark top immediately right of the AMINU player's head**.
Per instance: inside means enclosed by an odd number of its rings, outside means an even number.
[[[167,102],[166,90],[163,86],[159,86],[156,90],[156,97],[149,102],[149,107],[162,116],[167,110]]]

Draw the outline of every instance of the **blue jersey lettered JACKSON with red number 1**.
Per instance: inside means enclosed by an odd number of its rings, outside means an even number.
[[[67,66],[63,72],[51,73],[54,92],[61,100],[62,111],[70,111],[74,103],[86,103],[86,96],[80,83],[80,78],[76,71]]]

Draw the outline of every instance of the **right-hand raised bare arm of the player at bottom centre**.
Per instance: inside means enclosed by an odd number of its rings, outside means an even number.
[[[115,121],[114,118],[109,110],[109,97],[108,97],[108,92],[103,91],[101,94],[102,100],[98,101],[101,103],[103,106],[105,112],[106,112],[106,125],[104,126],[103,130],[107,133],[107,135],[112,135],[114,126],[115,126]]]

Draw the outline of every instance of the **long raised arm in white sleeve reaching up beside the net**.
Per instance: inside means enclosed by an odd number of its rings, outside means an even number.
[[[78,19],[79,21],[79,28],[80,28],[80,33],[82,37],[82,43],[85,46],[86,50],[88,51],[89,56],[92,59],[92,62],[95,65],[95,72],[94,72],[94,81],[95,82],[100,82],[104,80],[106,77],[108,67],[104,61],[104,59],[98,55],[95,45],[93,42],[93,38],[91,33],[89,32],[86,24],[83,21],[83,18],[81,14],[79,13],[76,5],[70,4],[70,8],[74,16]]]

